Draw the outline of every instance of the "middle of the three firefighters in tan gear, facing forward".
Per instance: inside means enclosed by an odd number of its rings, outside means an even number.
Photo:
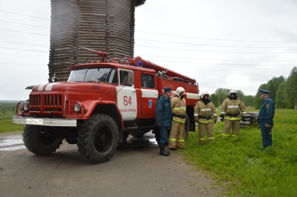
[[[205,131],[208,141],[214,143],[214,125],[217,122],[217,110],[211,100],[208,99],[208,92],[202,93],[202,98],[197,102],[194,110],[195,122],[198,123],[198,145],[204,144]],[[212,119],[212,117],[214,120]]]

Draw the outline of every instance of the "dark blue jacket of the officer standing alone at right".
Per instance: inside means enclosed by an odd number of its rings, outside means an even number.
[[[263,104],[259,111],[259,119],[261,122],[266,121],[265,124],[271,125],[272,118],[274,118],[274,102],[270,97],[263,100]]]

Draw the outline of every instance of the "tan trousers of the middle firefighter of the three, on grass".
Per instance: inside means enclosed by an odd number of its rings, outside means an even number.
[[[214,143],[214,124],[212,124],[212,122],[202,123],[198,121],[198,145],[204,144],[205,131],[207,133],[209,143]]]

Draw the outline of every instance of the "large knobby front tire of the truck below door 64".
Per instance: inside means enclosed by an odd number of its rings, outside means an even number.
[[[108,161],[118,146],[116,122],[108,115],[94,114],[78,131],[78,151],[91,163]]]

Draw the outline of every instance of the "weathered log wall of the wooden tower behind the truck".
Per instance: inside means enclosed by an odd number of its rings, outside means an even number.
[[[135,7],[145,0],[50,0],[49,81],[67,81],[69,67],[100,60],[79,47],[134,57]]]

